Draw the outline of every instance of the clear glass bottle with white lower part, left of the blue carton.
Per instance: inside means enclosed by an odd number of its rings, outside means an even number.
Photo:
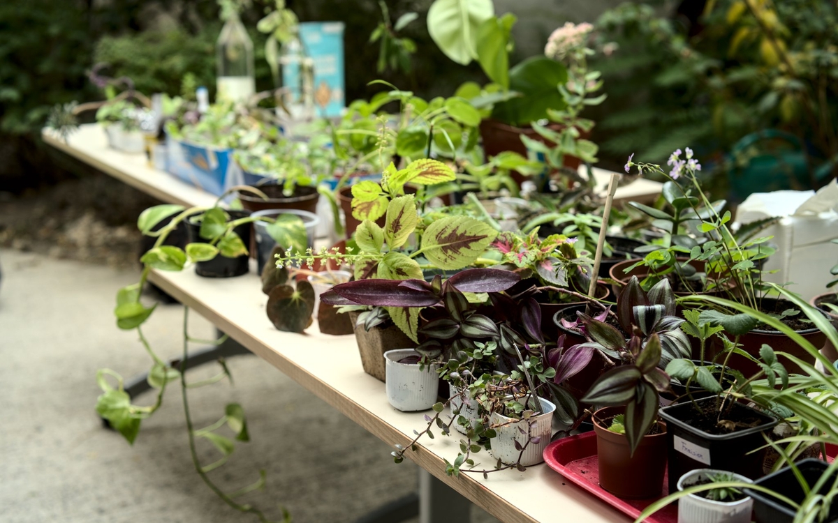
[[[237,13],[230,13],[230,18],[221,28],[218,43],[215,44],[215,60],[218,100],[242,103],[256,93],[253,42]]]

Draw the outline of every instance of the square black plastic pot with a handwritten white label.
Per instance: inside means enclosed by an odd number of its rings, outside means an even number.
[[[716,401],[715,396],[706,397],[696,400],[696,405]],[[682,475],[695,469],[729,470],[750,479],[763,475],[764,449],[748,453],[765,444],[763,431],[773,428],[779,420],[742,403],[733,403],[731,414],[734,420],[754,415],[764,423],[732,433],[711,434],[693,426],[698,413],[691,402],[660,409],[660,417],[666,421],[668,434],[670,492],[678,490],[678,479]]]

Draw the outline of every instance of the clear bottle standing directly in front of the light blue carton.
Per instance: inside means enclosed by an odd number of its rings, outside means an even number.
[[[299,31],[279,49],[280,115],[292,121],[314,117],[314,61],[306,54]]]

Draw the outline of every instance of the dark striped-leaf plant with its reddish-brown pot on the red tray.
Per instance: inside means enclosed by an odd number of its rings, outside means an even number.
[[[582,403],[605,406],[593,413],[597,433],[599,485],[623,498],[660,495],[666,467],[667,426],[658,421],[659,392],[670,377],[658,368],[660,337],[632,336],[628,342],[612,326],[592,320],[591,336],[619,351],[623,365],[599,377]]]

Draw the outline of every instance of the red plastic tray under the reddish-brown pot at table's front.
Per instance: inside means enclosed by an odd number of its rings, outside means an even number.
[[[835,459],[838,454],[838,446],[826,445],[827,461]],[[636,519],[643,510],[669,495],[669,481],[667,474],[664,474],[664,489],[660,496],[646,500],[626,500],[618,498],[599,486],[599,464],[597,461],[597,434],[593,431],[577,434],[569,438],[556,439],[544,449],[544,460],[547,465],[563,475],[572,483],[587,490],[600,500],[617,510],[621,510],[632,519]],[[677,523],[678,504],[674,503],[658,510],[646,519],[648,523]]]

